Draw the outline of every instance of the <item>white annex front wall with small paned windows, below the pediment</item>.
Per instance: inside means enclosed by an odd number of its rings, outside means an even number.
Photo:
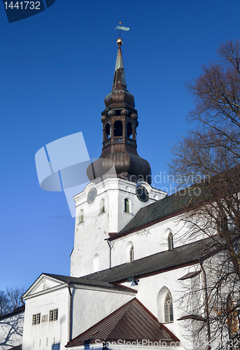
[[[58,310],[57,320],[50,321],[50,311]],[[41,314],[39,324],[33,316]],[[22,350],[64,350],[69,333],[69,290],[67,287],[46,291],[26,299]]]

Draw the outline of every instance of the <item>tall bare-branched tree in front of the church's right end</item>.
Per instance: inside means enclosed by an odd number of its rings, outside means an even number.
[[[196,335],[204,328],[215,341],[227,334],[230,342],[216,349],[233,349],[240,341],[240,41],[220,45],[218,56],[187,85],[195,97],[188,121],[197,127],[172,146],[169,168],[179,187],[188,188],[188,210],[181,216],[186,237],[211,237],[209,255],[219,252],[204,262],[205,285],[186,293],[207,293],[195,305],[205,320]]]

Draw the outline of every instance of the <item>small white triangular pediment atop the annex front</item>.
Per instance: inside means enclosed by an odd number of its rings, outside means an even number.
[[[41,274],[22,297],[25,299],[39,293],[45,293],[48,290],[58,288],[64,284],[64,281]]]

